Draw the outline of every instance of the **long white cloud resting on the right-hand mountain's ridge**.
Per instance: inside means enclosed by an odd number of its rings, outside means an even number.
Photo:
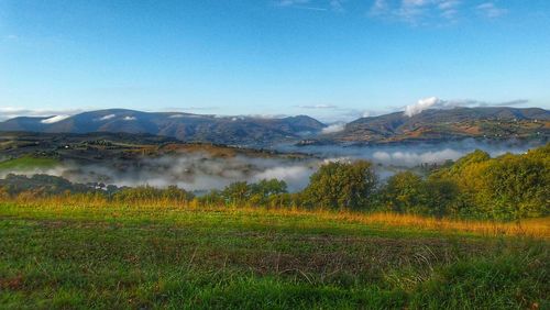
[[[405,107],[404,114],[407,117],[413,117],[421,113],[428,109],[453,109],[453,108],[476,108],[476,107],[515,107],[528,103],[529,100],[519,99],[504,102],[487,102],[481,100],[443,100],[438,97],[428,97],[418,100],[414,104],[409,104]]]

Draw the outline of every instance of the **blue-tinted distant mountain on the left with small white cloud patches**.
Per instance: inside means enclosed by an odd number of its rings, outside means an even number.
[[[148,113],[111,109],[90,111],[56,120],[15,118],[0,122],[0,131],[46,133],[123,132],[146,133],[185,142],[210,142],[230,145],[262,146],[297,140],[324,128],[305,115],[266,119],[253,117],[216,117],[189,113]]]

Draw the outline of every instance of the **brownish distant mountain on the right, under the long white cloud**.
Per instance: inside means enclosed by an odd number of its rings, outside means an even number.
[[[407,117],[403,112],[362,118],[344,130],[323,135],[329,143],[395,143],[449,141],[465,137],[491,140],[550,136],[550,111],[514,108],[455,108],[427,110]]]

